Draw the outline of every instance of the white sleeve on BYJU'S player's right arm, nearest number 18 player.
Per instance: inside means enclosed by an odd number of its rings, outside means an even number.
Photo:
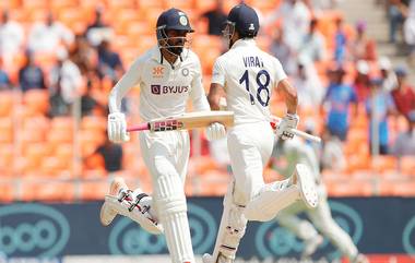
[[[198,56],[194,55],[194,76],[191,82],[190,98],[192,100],[193,109],[195,111],[211,110],[202,82],[202,67]]]

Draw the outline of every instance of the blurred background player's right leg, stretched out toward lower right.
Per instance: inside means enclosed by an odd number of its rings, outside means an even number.
[[[307,212],[312,224],[317,229],[346,255],[352,262],[361,258],[358,254],[356,246],[353,243],[351,236],[347,235],[333,219],[329,203],[325,198],[320,199],[320,203],[316,210]]]

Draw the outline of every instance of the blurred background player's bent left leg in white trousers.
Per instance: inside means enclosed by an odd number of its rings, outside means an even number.
[[[321,237],[316,228],[308,220],[300,219],[297,214],[306,210],[305,205],[301,203],[293,204],[287,208],[281,211],[276,220],[280,226],[287,228],[296,237],[300,238],[305,242],[305,248],[301,253],[301,258],[308,258],[317,248],[323,242],[323,237]]]

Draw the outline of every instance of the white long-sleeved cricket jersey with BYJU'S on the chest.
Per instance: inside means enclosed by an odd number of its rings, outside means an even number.
[[[201,72],[200,60],[191,50],[185,49],[171,65],[154,47],[139,57],[112,88],[110,112],[120,111],[121,98],[137,84],[144,121],[183,113],[189,97],[194,110],[210,110]]]

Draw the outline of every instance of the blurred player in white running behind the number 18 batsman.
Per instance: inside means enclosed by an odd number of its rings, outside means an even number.
[[[358,253],[352,238],[333,219],[328,203],[325,186],[320,177],[319,159],[313,148],[299,139],[283,141],[278,140],[275,144],[272,159],[273,167],[278,174],[289,177],[295,170],[296,164],[304,164],[310,168],[317,183],[319,204],[315,210],[310,210],[303,204],[293,204],[283,210],[276,217],[278,224],[290,231],[305,242],[303,258],[310,256],[322,243],[321,232],[328,238],[340,252],[347,256],[351,263],[366,263],[367,259]],[[278,160],[284,159],[286,167],[278,165]],[[306,212],[312,225],[305,219],[300,219],[297,214]]]

